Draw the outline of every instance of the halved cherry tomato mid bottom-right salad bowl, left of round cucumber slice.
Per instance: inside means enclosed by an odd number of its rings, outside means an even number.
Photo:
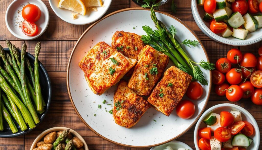
[[[214,131],[215,138],[220,142],[226,142],[231,138],[231,133],[227,128],[219,127]]]

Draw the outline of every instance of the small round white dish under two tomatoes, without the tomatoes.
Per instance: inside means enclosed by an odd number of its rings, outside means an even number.
[[[21,24],[24,21],[22,9],[27,4],[35,4],[41,10],[41,17],[35,22],[38,33],[35,36],[28,36],[22,32]],[[14,0],[6,10],[6,26],[10,33],[22,40],[33,40],[40,37],[47,29],[49,24],[48,9],[41,0]]]

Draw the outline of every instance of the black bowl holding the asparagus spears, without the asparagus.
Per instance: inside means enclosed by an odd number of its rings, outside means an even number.
[[[4,51],[6,51],[7,53],[10,53],[9,48],[4,48]],[[21,53],[21,50],[19,50],[19,53]],[[26,56],[29,59],[29,62],[31,63],[31,65],[34,67],[35,57],[33,55],[29,54],[29,53],[26,53]],[[40,86],[41,86],[41,91],[42,91],[44,101],[46,102],[46,106],[45,106],[45,112],[42,113],[41,115],[38,114],[40,122],[37,123],[36,126],[38,126],[43,121],[43,119],[45,118],[45,115],[46,115],[46,113],[49,109],[50,103],[51,103],[51,95],[52,95],[51,81],[49,79],[49,76],[48,76],[48,73],[47,73],[45,67],[43,66],[43,64],[41,62],[39,63],[39,78],[41,79],[40,80]],[[17,124],[17,122],[14,120],[13,117],[12,117],[12,119],[15,122],[15,125],[17,126],[18,132],[12,133],[11,129],[9,128],[8,123],[3,118],[4,131],[0,132],[0,137],[17,137],[17,136],[24,135],[24,134],[29,133],[30,131],[34,130],[34,129],[29,128],[29,126],[27,126],[28,127],[27,130],[21,131],[19,125]]]

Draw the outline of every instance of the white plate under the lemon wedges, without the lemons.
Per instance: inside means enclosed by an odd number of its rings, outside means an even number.
[[[53,9],[54,13],[64,20],[65,22],[71,23],[71,24],[77,24],[77,25],[83,25],[83,24],[89,24],[92,22],[95,22],[99,18],[101,18],[106,11],[108,10],[112,0],[102,0],[102,3],[104,7],[96,7],[98,11],[86,11],[86,14],[83,16],[81,14],[77,15],[77,19],[72,19],[71,15],[74,13],[73,11],[64,9],[64,8],[58,8],[59,0],[49,0],[50,6]]]

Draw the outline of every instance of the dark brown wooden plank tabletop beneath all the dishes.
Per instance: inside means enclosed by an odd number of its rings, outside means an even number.
[[[70,53],[77,42],[80,35],[85,31],[89,25],[73,25],[64,22],[62,19],[57,17],[53,12],[48,0],[42,0],[50,13],[50,23],[46,32],[39,38],[33,41],[24,41],[14,37],[7,29],[5,23],[5,14],[8,5],[12,0],[0,0],[0,44],[6,47],[5,40],[12,40],[12,42],[21,47],[24,42],[27,42],[28,52],[34,54],[34,46],[38,41],[42,42],[42,49],[39,56],[40,61],[45,66],[52,82],[52,102],[50,109],[44,119],[44,121],[37,126],[32,132],[19,136],[17,138],[0,138],[0,149],[25,149],[29,150],[34,139],[44,130],[63,126],[69,127],[80,133],[85,139],[90,150],[109,150],[109,149],[121,149],[121,150],[136,150],[139,148],[129,148],[119,146],[110,143],[101,137],[93,133],[84,123],[80,120],[77,113],[74,111],[72,104],[69,100],[66,85],[66,69],[69,60]],[[175,0],[178,7],[177,13],[174,14],[177,18],[181,19],[187,24],[201,39],[204,44],[206,51],[209,55],[211,62],[216,62],[217,59],[225,57],[228,50],[231,48],[238,48],[242,52],[251,52],[257,55],[257,50],[260,43],[250,46],[229,46],[214,42],[208,38],[196,25],[192,12],[191,12],[191,1],[190,0]],[[170,11],[171,0],[160,7],[161,11],[171,13]],[[137,7],[132,0],[113,0],[110,8],[106,14],[117,11],[119,9]],[[172,13],[171,13],[172,14]],[[221,104],[221,103],[232,103],[226,100],[226,97],[218,97],[214,93],[214,87],[212,87],[210,99],[206,107]],[[234,104],[240,105],[248,110],[256,119],[260,131],[262,131],[262,106],[254,105],[250,99],[240,100],[234,102]],[[187,133],[179,137],[177,140],[188,144],[190,147],[195,149],[193,132],[195,126],[193,126]],[[150,148],[144,148],[150,149]],[[260,142],[259,149],[262,149],[262,143]]]

